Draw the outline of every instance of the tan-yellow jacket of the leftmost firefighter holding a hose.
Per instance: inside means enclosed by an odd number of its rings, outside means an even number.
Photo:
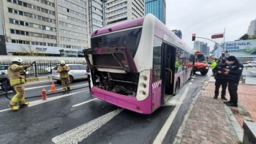
[[[23,68],[24,66],[19,66],[18,64],[12,64],[8,67],[11,86],[26,83]]]

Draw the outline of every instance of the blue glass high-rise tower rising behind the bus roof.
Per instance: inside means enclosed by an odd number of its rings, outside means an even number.
[[[165,0],[146,0],[145,15],[151,13],[156,16],[162,23],[166,22],[166,2]]]

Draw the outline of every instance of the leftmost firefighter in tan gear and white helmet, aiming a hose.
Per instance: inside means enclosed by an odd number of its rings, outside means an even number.
[[[8,75],[10,77],[10,85],[13,86],[16,94],[10,101],[10,109],[18,110],[19,107],[25,107],[29,105],[29,102],[25,101],[25,88],[26,83],[25,72],[23,69],[28,69],[31,65],[23,65],[23,60],[20,58],[13,58],[12,64],[8,67]],[[19,107],[17,107],[19,105]]]

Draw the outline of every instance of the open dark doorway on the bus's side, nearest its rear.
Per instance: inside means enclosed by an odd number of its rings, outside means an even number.
[[[162,104],[173,94],[176,48],[167,43],[162,46]],[[165,83],[164,83],[165,82]]]

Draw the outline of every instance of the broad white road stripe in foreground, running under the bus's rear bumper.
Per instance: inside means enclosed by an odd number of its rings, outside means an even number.
[[[95,132],[101,126],[103,126],[112,118],[114,118],[116,115],[118,115],[118,113],[120,113],[122,110],[124,109],[113,110],[112,112],[102,115],[99,118],[89,121],[86,124],[78,126],[75,129],[71,129],[68,132],[65,132],[64,134],[60,134],[56,137],[53,137],[52,141],[53,143],[81,142],[86,137],[89,137],[91,133]]]

